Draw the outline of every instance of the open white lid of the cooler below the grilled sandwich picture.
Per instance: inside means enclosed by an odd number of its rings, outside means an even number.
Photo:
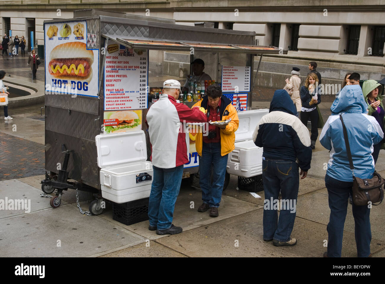
[[[146,135],[143,130],[100,134],[95,137],[99,168],[147,160]]]

